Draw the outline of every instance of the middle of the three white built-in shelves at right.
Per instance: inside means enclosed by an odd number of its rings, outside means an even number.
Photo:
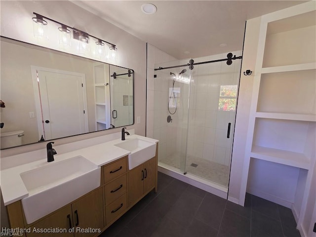
[[[256,118],[275,118],[300,121],[316,121],[316,115],[299,114],[299,113],[274,113],[274,112],[257,112]]]

